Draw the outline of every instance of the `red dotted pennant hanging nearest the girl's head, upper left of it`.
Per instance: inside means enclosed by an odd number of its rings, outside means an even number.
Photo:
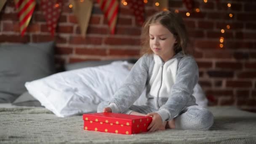
[[[142,0],[126,0],[126,2],[133,11],[136,22],[142,25],[144,22],[144,2]]]

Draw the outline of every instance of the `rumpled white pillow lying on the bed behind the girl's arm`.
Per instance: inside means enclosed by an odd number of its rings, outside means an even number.
[[[25,83],[29,93],[58,117],[96,112],[125,80],[127,61],[60,72]]]

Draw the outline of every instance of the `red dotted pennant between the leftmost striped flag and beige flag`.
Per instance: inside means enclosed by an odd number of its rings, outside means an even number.
[[[61,13],[62,0],[41,0],[41,10],[46,20],[48,30],[54,36],[57,21]]]

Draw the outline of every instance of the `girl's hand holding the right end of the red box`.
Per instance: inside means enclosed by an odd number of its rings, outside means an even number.
[[[147,127],[149,132],[160,130],[163,127],[162,117],[157,112],[151,112],[146,115],[152,117],[152,122]]]

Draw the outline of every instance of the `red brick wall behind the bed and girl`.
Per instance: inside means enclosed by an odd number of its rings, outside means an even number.
[[[145,15],[157,8],[152,0]],[[211,105],[236,105],[256,110],[256,1],[194,0],[200,12],[187,12],[181,0],[170,0],[171,9],[179,10],[190,35],[189,50],[200,68],[200,85]],[[232,1],[231,8],[227,2]],[[39,5],[24,37],[19,35],[19,21],[13,0],[0,13],[0,43],[28,43],[56,40],[56,65],[86,60],[139,57],[140,26],[127,6],[120,4],[116,34],[110,35],[107,21],[94,0],[86,38],[80,36],[77,20],[64,0],[55,37],[48,32]],[[229,13],[233,17],[229,17]],[[230,29],[226,25],[230,25]],[[222,34],[220,29],[225,29]],[[224,47],[219,39],[224,37]]]

